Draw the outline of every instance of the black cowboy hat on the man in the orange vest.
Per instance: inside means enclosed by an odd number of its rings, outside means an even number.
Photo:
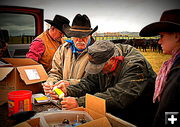
[[[70,22],[66,17],[61,16],[61,15],[55,15],[53,20],[45,19],[44,21],[49,23],[51,26],[56,27],[57,29],[59,29],[64,34],[65,34],[65,32],[63,30],[63,25],[68,26],[69,22]]]

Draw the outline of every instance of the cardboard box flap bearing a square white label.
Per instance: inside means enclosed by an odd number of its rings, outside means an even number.
[[[17,67],[21,79],[26,85],[46,81],[48,75],[42,65],[20,66]]]

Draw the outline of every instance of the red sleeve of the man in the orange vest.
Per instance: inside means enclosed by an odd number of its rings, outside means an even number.
[[[45,46],[41,39],[35,39],[29,48],[28,53],[26,54],[27,58],[31,58],[35,61],[39,61],[41,59],[42,54],[45,51]]]

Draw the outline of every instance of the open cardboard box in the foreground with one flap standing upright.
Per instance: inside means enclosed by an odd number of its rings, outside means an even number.
[[[79,107],[71,111],[85,111],[94,119],[78,127],[135,127],[133,124],[106,113],[105,100],[89,94],[86,95],[86,108]],[[69,116],[69,119],[72,117]],[[62,118],[64,118],[64,114],[61,115],[58,112],[42,112],[37,114],[33,119],[16,125],[16,127],[40,127],[42,125],[49,127],[47,124],[59,123]],[[67,116],[66,118],[68,119]]]

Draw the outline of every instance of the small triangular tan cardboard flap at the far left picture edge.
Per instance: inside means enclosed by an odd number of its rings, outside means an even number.
[[[12,70],[14,67],[1,67],[0,68],[0,81],[2,81]]]

